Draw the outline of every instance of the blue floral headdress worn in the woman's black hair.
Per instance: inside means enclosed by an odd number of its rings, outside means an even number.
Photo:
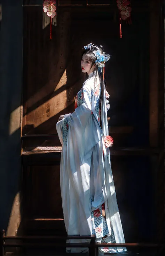
[[[91,48],[96,48],[96,51],[92,51],[94,53],[94,55],[96,56],[96,65],[99,67],[100,72],[102,72],[102,67],[105,66],[105,62],[109,61],[110,59],[110,55],[109,54],[105,54],[105,52],[101,53],[100,49],[95,46],[94,44],[90,43],[84,46],[84,49],[87,50],[91,50]],[[100,47],[102,48],[102,45],[100,45]]]

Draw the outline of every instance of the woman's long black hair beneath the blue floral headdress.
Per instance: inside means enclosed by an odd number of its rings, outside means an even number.
[[[101,49],[99,49],[100,51],[102,51]],[[97,60],[96,56],[94,55],[93,51],[96,51],[96,48],[95,47],[91,47],[91,49],[87,49],[87,50],[83,50],[82,51],[82,55],[81,55],[81,58],[82,56],[85,54],[86,56],[86,59],[88,61],[90,61],[92,63],[91,65],[91,68],[92,66],[95,64],[95,61]],[[93,74],[94,72],[96,71],[96,76],[97,76],[97,70],[98,70],[98,66],[96,65],[94,71],[93,71]],[[100,94],[100,103],[99,103],[99,108],[101,110],[101,101],[102,101],[102,98],[103,98],[103,90],[104,90],[104,78],[103,78],[103,68],[102,68],[102,72],[98,72],[99,74],[99,79],[100,79],[100,88],[101,88],[101,94]],[[86,74],[87,76],[87,74]],[[87,78],[87,77],[86,77]],[[102,128],[102,121],[101,121],[101,117],[100,117],[100,126]]]

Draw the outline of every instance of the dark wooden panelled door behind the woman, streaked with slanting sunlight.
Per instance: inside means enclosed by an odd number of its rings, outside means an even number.
[[[89,0],[88,6],[83,0],[59,1],[52,40],[49,40],[50,25],[43,21],[41,2],[33,6],[24,4],[25,232],[34,233],[41,228],[45,232],[50,229],[65,232],[60,194],[61,144],[56,122],[60,115],[74,111],[74,100],[84,81],[81,49],[92,41],[103,44],[104,50],[111,54],[105,66],[111,96],[109,133],[114,139],[111,162],[125,239],[127,242],[161,240],[164,237],[161,228],[164,201],[160,199],[164,191],[161,1],[154,5],[154,1],[132,0],[132,24],[122,24],[122,39],[116,1]],[[79,6],[72,6],[77,2]]]

